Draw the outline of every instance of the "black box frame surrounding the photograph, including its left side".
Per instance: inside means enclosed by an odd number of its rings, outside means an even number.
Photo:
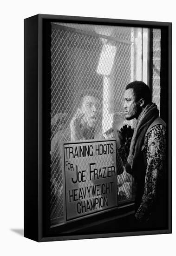
[[[24,21],[25,28],[25,166],[24,166],[24,236],[38,242],[70,239],[87,239],[116,236],[137,236],[151,234],[166,234],[172,232],[172,23],[114,20],[88,17],[71,17],[59,15],[38,14]],[[165,95],[161,102],[161,115],[168,125],[168,225],[158,230],[123,230],[107,228],[116,216],[116,211],[104,213],[103,217],[92,216],[91,226],[96,227],[105,223],[104,231],[90,233],[89,221],[79,220],[76,223],[50,226],[49,189],[50,189],[50,109],[51,89],[51,52],[50,52],[50,22],[72,22],[97,25],[129,26],[160,28],[163,34],[161,47],[161,83]],[[132,212],[134,205],[128,205]],[[125,216],[123,207],[118,211],[119,216]],[[84,232],[82,231],[84,229]],[[87,233],[86,233],[86,230]]]

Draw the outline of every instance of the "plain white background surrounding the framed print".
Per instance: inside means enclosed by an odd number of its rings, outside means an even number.
[[[173,175],[174,234],[36,243],[12,229],[23,229],[23,19],[37,13],[173,22],[173,70],[176,69],[174,1],[161,0],[9,0],[0,14],[0,251],[1,255],[173,255],[176,241],[176,175]],[[176,75],[173,72],[173,99]],[[176,101],[173,102],[173,109]],[[175,118],[173,126],[175,127]],[[173,135],[173,148],[176,135]],[[173,155],[176,151],[173,150]],[[176,161],[173,159],[173,173]],[[176,200],[175,200],[176,201]],[[21,231],[20,231],[21,232]],[[171,252],[173,251],[173,253]]]

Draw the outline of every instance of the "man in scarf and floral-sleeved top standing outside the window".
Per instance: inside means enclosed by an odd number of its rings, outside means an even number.
[[[162,227],[166,213],[166,124],[159,117],[155,103],[151,101],[149,87],[142,81],[126,86],[124,114],[127,120],[135,118],[136,124],[130,142],[126,171],[136,183],[135,217],[146,227]],[[119,138],[124,140],[123,128]],[[128,144],[126,141],[125,144]],[[122,158],[126,145],[119,148]],[[142,224],[140,224],[142,226]]]

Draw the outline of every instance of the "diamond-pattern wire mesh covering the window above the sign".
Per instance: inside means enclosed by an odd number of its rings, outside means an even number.
[[[131,28],[58,23],[52,24],[51,39],[50,218],[59,223],[64,219],[62,142],[103,139],[117,121],[131,80]],[[96,100],[96,122],[87,135],[74,138],[72,120],[85,95]],[[93,107],[85,108],[91,119]],[[117,170],[121,166],[117,157]],[[119,202],[132,198],[131,177],[125,171],[118,175],[117,193]]]

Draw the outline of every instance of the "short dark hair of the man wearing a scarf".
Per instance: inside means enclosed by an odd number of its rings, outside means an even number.
[[[136,101],[139,101],[140,99],[143,98],[145,101],[145,104],[148,104],[151,102],[150,88],[143,81],[131,82],[126,86],[125,89],[126,90],[133,89]]]

